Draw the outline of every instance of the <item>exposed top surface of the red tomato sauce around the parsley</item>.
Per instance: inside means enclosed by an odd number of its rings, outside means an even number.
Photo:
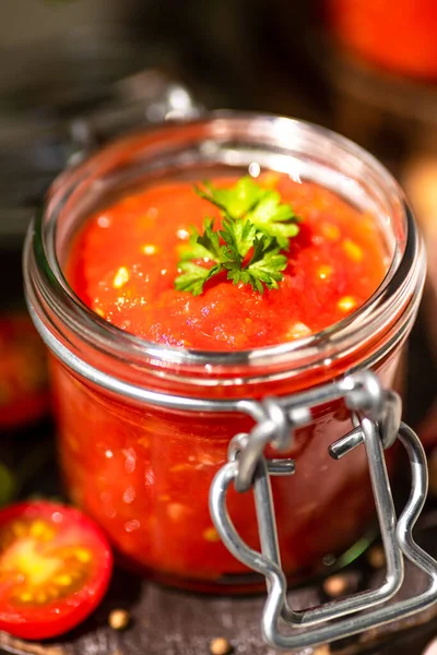
[[[221,221],[220,210],[190,182],[146,189],[92,216],[71,251],[71,286],[117,327],[184,348],[259,348],[341,321],[374,294],[387,270],[374,216],[285,175],[264,174],[257,183],[277,191],[299,217],[277,289],[260,294],[225,275],[208,282],[198,296],[175,288],[192,226],[200,230],[205,216]]]

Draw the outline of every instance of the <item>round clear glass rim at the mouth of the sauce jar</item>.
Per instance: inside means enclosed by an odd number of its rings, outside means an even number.
[[[401,239],[401,245],[395,245],[391,265],[374,295],[352,314],[311,336],[234,352],[188,349],[147,342],[111,325],[86,307],[68,285],[55,252],[56,219],[59,212],[71,201],[78,186],[92,172],[95,175],[98,166],[104,166],[122,153],[130,157],[137,156],[139,140],[144,148],[147,143],[153,148],[168,146],[172,139],[190,129],[200,130],[201,138],[209,135],[210,139],[218,140],[231,135],[235,139],[241,131],[248,139],[258,139],[262,131],[268,132],[275,142],[281,141],[282,144],[292,144],[293,140],[302,143],[309,140],[308,143],[319,144],[323,156],[329,156],[333,151],[343,153],[358,165],[363,175],[370,176],[370,179],[373,176],[374,181],[377,179],[392,203],[393,212],[398,213],[398,218],[403,223],[404,238]],[[364,148],[327,128],[307,121],[275,115],[220,110],[211,111],[200,119],[172,121],[133,133],[104,147],[74,169],[63,172],[54,182],[43,212],[28,231],[24,252],[25,286],[28,303],[43,323],[47,323],[47,314],[50,312],[57,317],[55,322],[58,327],[55,330],[51,324],[52,332],[59,330],[59,322],[67,323],[79,338],[125,361],[137,366],[152,362],[154,368],[163,365],[167,368],[177,366],[178,372],[180,367],[186,367],[188,374],[190,369],[199,370],[199,367],[203,370],[205,367],[211,368],[211,372],[218,367],[222,371],[235,373],[236,367],[246,366],[251,369],[250,376],[253,376],[253,367],[259,371],[262,367],[272,370],[274,365],[290,369],[321,364],[370,337],[378,329],[387,325],[393,318],[393,312],[399,312],[402,308],[404,322],[411,319],[415,315],[424,282],[423,250],[403,192],[391,174]]]

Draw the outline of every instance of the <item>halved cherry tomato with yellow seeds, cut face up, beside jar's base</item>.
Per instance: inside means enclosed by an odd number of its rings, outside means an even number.
[[[34,501],[0,512],[0,629],[46,639],[83,621],[113,570],[106,537],[82,512]]]

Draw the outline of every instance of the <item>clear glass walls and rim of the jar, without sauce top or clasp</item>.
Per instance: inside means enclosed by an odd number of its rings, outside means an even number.
[[[72,238],[97,207],[150,183],[243,175],[253,163],[319,182],[375,215],[391,263],[355,313],[274,347],[197,352],[118,330],[69,287],[62,266]],[[227,592],[255,581],[221,543],[208,496],[232,437],[253,425],[245,403],[311,390],[362,368],[385,386],[399,385],[425,261],[400,189],[369,154],[297,120],[216,112],[128,136],[64,172],[28,231],[24,269],[32,317],[52,353],[59,455],[72,501],[102,525],[127,564],[170,584]],[[204,400],[217,402],[217,410],[205,412]],[[292,580],[334,562],[374,520],[363,449],[340,462],[328,454],[350,429],[342,402],[317,406],[283,455],[294,457],[296,474],[272,480]],[[390,467],[392,450],[387,458]],[[250,495],[231,489],[228,507],[244,540],[257,547]]]

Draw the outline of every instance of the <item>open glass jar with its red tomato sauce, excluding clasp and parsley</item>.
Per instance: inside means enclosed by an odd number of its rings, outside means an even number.
[[[310,162],[316,172],[321,167],[331,188],[359,202],[354,207],[319,184],[279,176],[283,200],[304,218],[280,288],[256,295],[217,277],[201,296],[176,291],[175,248],[186,243],[189,225],[212,211],[180,177],[235,179],[247,175],[253,151],[262,158],[263,148],[270,154],[275,147]],[[196,174],[193,153],[201,153]],[[238,154],[245,166],[223,165],[224,153],[232,160]],[[218,172],[208,175],[215,156]],[[149,164],[151,181],[144,181]],[[363,198],[373,199],[375,213],[357,209]],[[232,437],[253,421],[236,410],[160,406],[144,394],[215,402],[284,396],[362,366],[392,386],[424,277],[411,215],[371,157],[312,126],[238,115],[152,130],[67,171],[29,233],[25,261],[28,301],[56,355],[59,453],[72,500],[129,564],[172,584],[215,592],[245,591],[253,580],[220,541],[208,507]],[[108,377],[120,384],[108,386]],[[323,568],[327,557],[332,561],[363,537],[375,516],[364,449],[339,462],[328,453],[351,428],[343,404],[320,405],[312,418],[284,454],[295,458],[295,475],[272,479],[290,577]],[[391,451],[387,458],[390,465]],[[257,548],[251,493],[232,488],[228,509],[241,538]]]

